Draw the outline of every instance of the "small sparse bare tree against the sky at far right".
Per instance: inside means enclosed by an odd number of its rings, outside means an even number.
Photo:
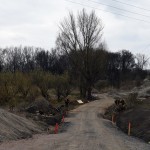
[[[141,70],[147,67],[149,58],[144,54],[136,54],[137,67]]]

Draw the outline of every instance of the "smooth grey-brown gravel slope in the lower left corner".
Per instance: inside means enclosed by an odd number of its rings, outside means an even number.
[[[0,142],[32,137],[42,128],[34,122],[0,109]]]

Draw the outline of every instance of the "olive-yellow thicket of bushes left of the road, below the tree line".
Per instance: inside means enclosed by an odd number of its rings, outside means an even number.
[[[67,97],[70,94],[68,73],[62,75],[52,75],[43,71],[0,73],[0,105],[11,108],[20,104],[26,105],[41,95],[50,100],[50,90],[54,90],[58,100]]]

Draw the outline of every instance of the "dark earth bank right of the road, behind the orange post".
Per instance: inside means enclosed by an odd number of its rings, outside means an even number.
[[[150,142],[150,100],[143,102],[141,106],[120,113],[116,118],[116,125],[125,133],[128,133],[128,123],[131,123],[131,136],[136,136],[146,142]]]

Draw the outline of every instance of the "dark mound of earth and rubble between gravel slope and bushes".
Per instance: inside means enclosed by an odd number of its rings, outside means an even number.
[[[33,120],[43,122],[49,126],[61,122],[62,115],[65,112],[64,109],[64,105],[54,108],[45,98],[40,97],[30,104],[26,111]],[[53,116],[51,114],[53,114]]]

